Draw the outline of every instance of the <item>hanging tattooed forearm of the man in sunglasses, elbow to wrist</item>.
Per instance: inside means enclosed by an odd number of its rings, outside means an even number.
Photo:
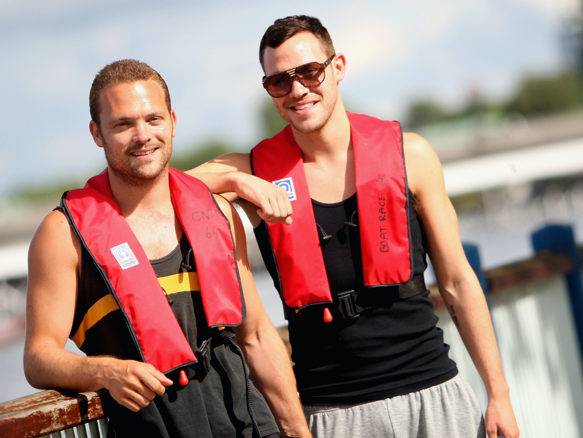
[[[508,395],[486,299],[474,275],[462,276],[441,289],[459,334],[482,377],[488,397]]]

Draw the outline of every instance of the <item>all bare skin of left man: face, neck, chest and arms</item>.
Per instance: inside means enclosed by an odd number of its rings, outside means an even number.
[[[108,86],[101,96],[100,126],[89,125],[107,157],[111,191],[150,260],[170,253],[182,236],[171,202],[167,163],[176,114],[152,80]],[[251,379],[264,395],[279,429],[310,438],[285,346],[261,305],[247,260],[245,231],[236,210],[215,195],[233,231],[246,317],[234,329]],[[139,411],[172,384],[147,363],[65,351],[75,316],[82,251],[62,211],[38,227],[29,251],[24,372],[37,388],[78,392],[107,388],[114,400]]]

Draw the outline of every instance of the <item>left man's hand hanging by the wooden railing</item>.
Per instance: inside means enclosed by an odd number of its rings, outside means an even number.
[[[103,386],[120,405],[138,412],[172,381],[149,363],[108,358],[103,364]]]

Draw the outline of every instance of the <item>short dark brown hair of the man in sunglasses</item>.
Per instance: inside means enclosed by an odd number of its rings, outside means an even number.
[[[322,50],[324,50],[324,53],[328,57],[331,57],[335,53],[332,38],[330,38],[328,30],[322,26],[320,20],[308,15],[291,15],[275,20],[265,31],[263,38],[261,38],[261,43],[259,44],[259,62],[261,62],[261,68],[265,71],[263,54],[266,47],[279,47],[285,41],[289,40],[289,38],[300,32],[310,32],[318,38],[322,45]]]

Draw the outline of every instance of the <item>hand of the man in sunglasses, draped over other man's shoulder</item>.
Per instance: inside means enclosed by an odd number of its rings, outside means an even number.
[[[257,215],[265,222],[291,224],[291,202],[285,188],[243,172],[233,172],[233,191],[259,207]]]

